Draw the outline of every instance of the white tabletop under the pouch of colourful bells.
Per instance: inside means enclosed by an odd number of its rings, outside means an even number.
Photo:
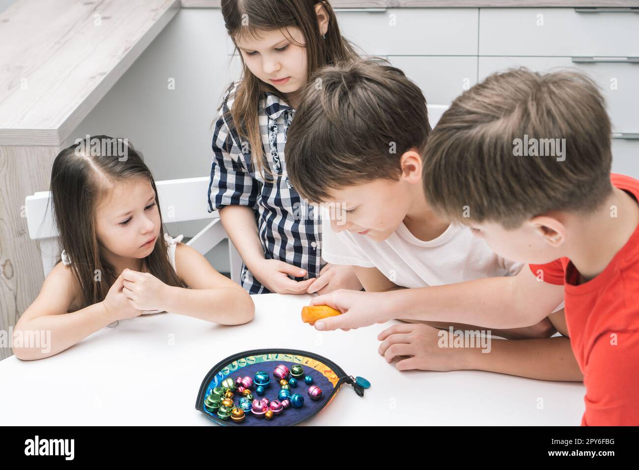
[[[254,295],[256,317],[221,326],[159,313],[104,328],[40,361],[0,361],[3,425],[213,425],[196,411],[204,375],[224,357],[301,349],[368,379],[344,385],[308,425],[579,425],[585,388],[479,371],[399,372],[377,349],[387,325],[320,333],[300,320],[310,295]],[[543,409],[538,409],[539,398]]]

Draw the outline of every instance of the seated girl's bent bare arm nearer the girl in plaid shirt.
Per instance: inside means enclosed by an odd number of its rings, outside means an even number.
[[[167,286],[166,311],[222,325],[250,322],[255,305],[242,286],[220,274],[192,247],[178,243],[176,273],[189,288]]]

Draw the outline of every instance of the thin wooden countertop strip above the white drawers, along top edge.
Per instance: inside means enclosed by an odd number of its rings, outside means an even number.
[[[220,0],[181,0],[182,8],[220,8]],[[637,0],[332,0],[333,8],[639,7]]]

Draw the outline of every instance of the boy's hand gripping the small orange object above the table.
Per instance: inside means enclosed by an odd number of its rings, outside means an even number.
[[[381,296],[381,297],[380,297]],[[315,322],[315,329],[348,331],[351,328],[385,323],[389,320],[381,308],[383,294],[379,292],[361,292],[359,290],[335,290],[330,294],[318,295],[311,305],[328,305],[342,312],[342,315],[323,318]]]

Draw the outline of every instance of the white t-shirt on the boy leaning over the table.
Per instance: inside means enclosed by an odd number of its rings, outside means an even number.
[[[327,216],[322,219],[321,256],[328,263],[376,267],[396,285],[408,288],[514,276],[523,266],[495,255],[484,240],[459,224],[450,224],[442,235],[424,242],[402,223],[389,238],[376,242],[346,230],[335,233]]]

